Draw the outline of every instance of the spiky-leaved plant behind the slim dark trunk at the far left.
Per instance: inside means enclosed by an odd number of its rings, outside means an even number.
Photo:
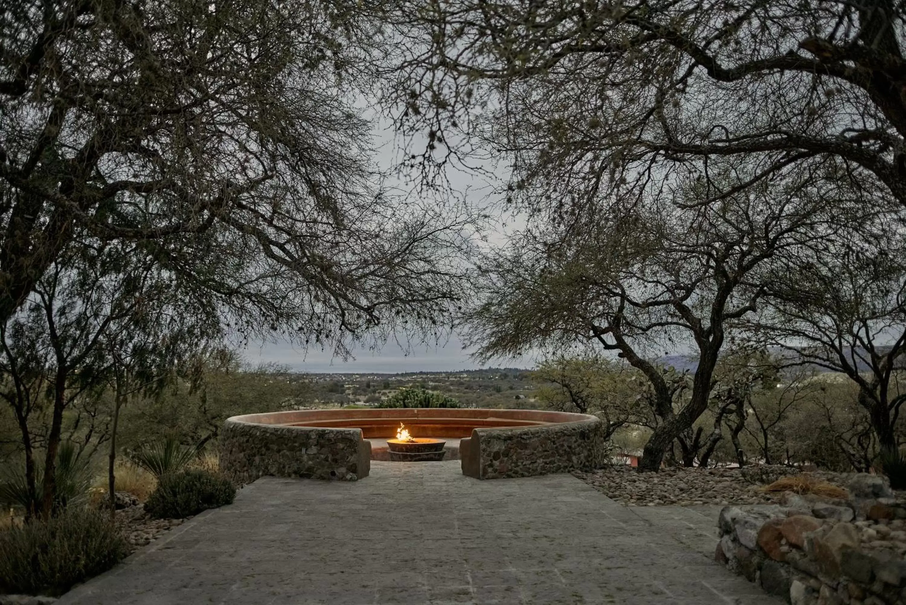
[[[60,444],[57,451],[56,471],[53,486],[53,511],[59,512],[73,504],[81,505],[88,501],[92,485],[92,474],[86,458],[80,458],[75,445],[70,442]],[[0,503],[29,510],[41,507],[43,502],[43,467],[34,469],[34,491],[28,489],[23,466],[10,466],[0,475]],[[33,501],[34,497],[34,501]]]

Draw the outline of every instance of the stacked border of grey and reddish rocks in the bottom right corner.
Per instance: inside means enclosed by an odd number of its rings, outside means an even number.
[[[724,507],[715,558],[792,605],[906,603],[906,504],[876,475],[847,488],[846,500]]]

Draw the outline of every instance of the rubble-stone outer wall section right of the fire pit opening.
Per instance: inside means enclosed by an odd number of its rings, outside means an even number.
[[[478,428],[472,439],[476,437],[479,479],[569,473],[600,468],[607,461],[607,440],[598,418],[527,428]]]

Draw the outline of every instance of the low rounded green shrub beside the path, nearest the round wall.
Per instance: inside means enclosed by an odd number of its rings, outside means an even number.
[[[145,510],[157,519],[183,519],[233,503],[235,497],[236,487],[229,480],[207,471],[183,471],[160,477]]]

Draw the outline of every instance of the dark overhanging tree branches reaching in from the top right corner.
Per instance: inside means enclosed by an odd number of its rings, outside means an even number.
[[[906,204],[906,10],[893,0],[413,0],[386,13],[401,42],[388,99],[403,132],[427,135],[425,161],[465,130],[508,154],[517,188],[581,194],[676,171],[720,200],[820,168]],[[752,170],[711,178],[734,157]]]

